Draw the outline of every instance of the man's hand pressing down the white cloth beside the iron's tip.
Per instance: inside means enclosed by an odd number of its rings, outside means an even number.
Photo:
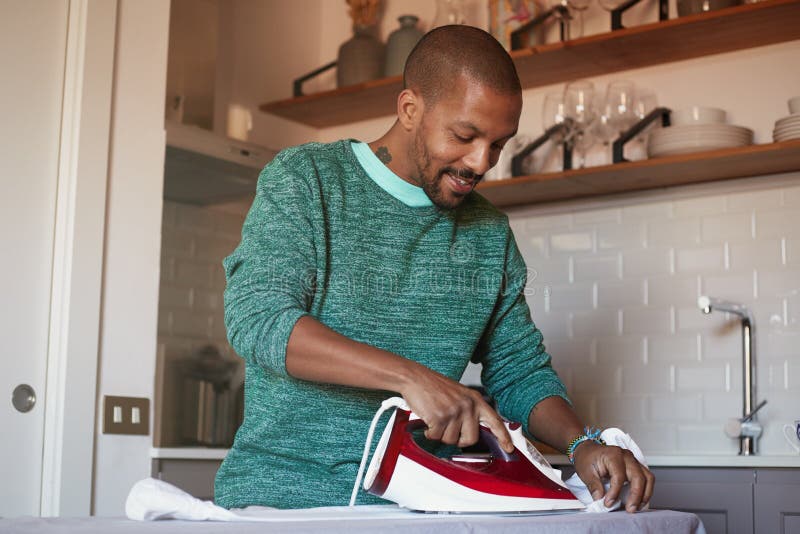
[[[581,443],[575,449],[575,472],[589,488],[594,500],[605,495],[603,504],[606,506],[619,499],[625,482],[630,484],[625,506],[628,512],[640,510],[653,496],[655,476],[626,449],[592,441]],[[608,492],[603,487],[604,478],[610,478]]]

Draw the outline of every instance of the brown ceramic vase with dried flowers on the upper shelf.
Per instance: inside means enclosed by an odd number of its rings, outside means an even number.
[[[336,83],[345,87],[380,78],[383,75],[384,47],[375,37],[375,28],[356,24],[353,37],[339,47]]]

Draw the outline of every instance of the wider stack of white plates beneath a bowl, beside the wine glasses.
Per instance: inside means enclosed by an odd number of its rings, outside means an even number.
[[[690,154],[753,143],[753,130],[724,123],[677,124],[650,134],[647,155],[651,158]]]

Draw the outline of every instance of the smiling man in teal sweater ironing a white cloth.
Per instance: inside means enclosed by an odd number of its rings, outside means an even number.
[[[517,131],[514,64],[468,26],[429,32],[408,58],[397,120],[370,144],[281,152],[262,173],[226,258],[228,336],[246,361],[242,427],[216,480],[226,507],[343,505],[369,421],[400,394],[430,439],[466,447],[501,417],[458,383],[472,359],[499,412],[559,450],[584,435],[525,302],[508,219],[473,192]],[[582,440],[595,498],[653,476],[617,447]],[[360,504],[378,502],[362,492]]]

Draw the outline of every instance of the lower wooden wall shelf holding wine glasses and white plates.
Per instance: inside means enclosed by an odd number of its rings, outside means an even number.
[[[790,171],[800,171],[800,140],[520,176],[477,190],[497,207],[513,207]]]

